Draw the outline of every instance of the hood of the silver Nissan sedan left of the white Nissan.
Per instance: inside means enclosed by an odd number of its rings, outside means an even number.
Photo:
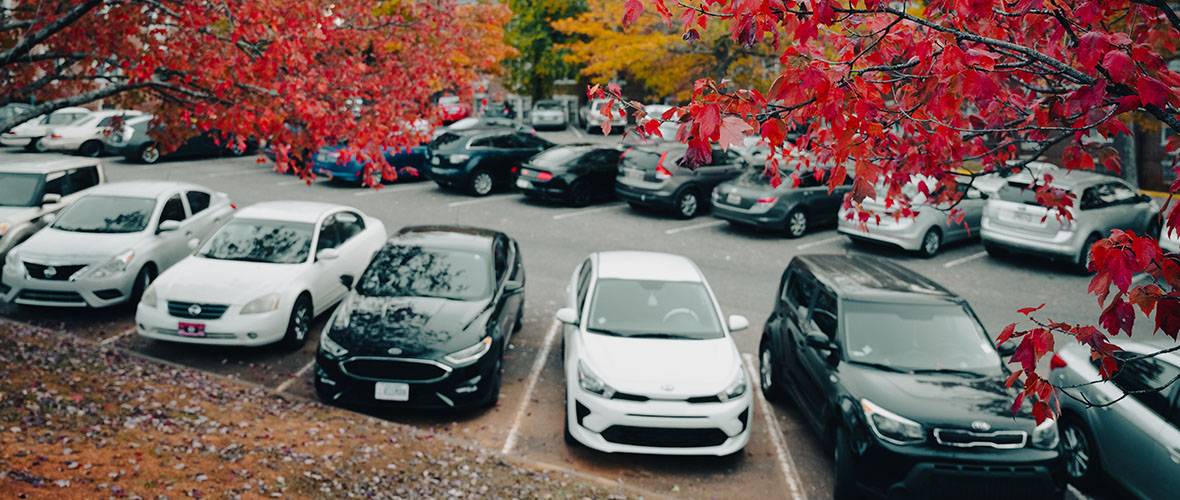
[[[96,264],[136,249],[150,238],[139,232],[76,232],[45,228],[19,246],[24,261],[40,264]]]

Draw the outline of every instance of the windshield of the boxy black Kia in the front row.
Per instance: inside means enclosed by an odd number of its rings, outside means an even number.
[[[962,304],[844,304],[844,350],[854,363],[903,371],[1001,371],[999,355]]]

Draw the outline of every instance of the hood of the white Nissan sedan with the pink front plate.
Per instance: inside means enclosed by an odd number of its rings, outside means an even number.
[[[160,274],[155,287],[164,301],[245,305],[287,289],[303,267],[189,256]]]

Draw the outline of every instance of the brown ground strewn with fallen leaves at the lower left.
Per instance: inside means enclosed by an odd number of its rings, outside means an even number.
[[[0,498],[603,499],[409,426],[0,320]]]

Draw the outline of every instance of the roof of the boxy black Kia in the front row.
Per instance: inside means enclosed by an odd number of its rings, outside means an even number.
[[[796,256],[802,265],[841,298],[876,302],[946,302],[958,296],[909,268],[876,256],[809,254]]]

